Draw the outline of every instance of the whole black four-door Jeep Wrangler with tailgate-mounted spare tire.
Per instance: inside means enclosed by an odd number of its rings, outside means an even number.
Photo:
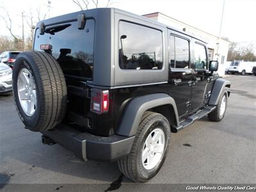
[[[26,129],[84,160],[118,161],[136,182],[159,172],[171,132],[208,115],[218,122],[230,81],[202,40],[115,8],[36,25],[33,51],[13,68]]]

